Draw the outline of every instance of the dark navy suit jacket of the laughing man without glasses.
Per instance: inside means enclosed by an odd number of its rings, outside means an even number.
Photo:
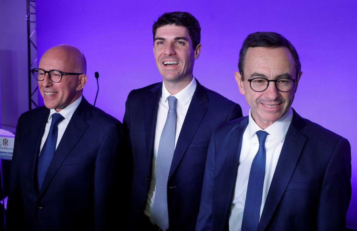
[[[155,126],[162,83],[133,90],[126,101],[124,126],[132,147],[134,178],[130,221],[143,219],[151,182]],[[217,125],[242,116],[241,107],[197,81],[178,137],[167,183],[170,230],[194,230],[200,205],[208,144]]]

